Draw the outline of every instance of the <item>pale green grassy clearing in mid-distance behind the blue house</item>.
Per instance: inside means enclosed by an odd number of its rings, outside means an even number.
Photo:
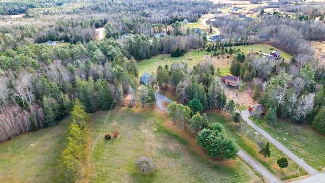
[[[187,62],[189,68],[192,68],[194,65],[200,63],[201,60],[211,59],[210,55],[212,53],[208,55],[208,58],[205,58],[207,56],[205,50],[206,49],[202,49],[202,51],[200,51],[200,49],[193,49],[181,57],[171,57],[170,54],[160,54],[158,56],[153,56],[148,60],[138,61],[139,73],[142,75],[144,72],[156,72],[158,66],[165,66],[166,64],[170,66],[171,64],[180,61]],[[192,60],[189,60],[189,58],[192,58]],[[223,58],[217,59],[217,57],[213,57],[212,63],[214,64],[215,69],[218,67],[220,68],[221,75],[229,74],[230,64],[226,64]]]

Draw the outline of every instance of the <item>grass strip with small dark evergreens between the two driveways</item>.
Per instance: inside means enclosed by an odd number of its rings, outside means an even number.
[[[230,122],[229,120],[225,120],[224,117],[219,115],[216,111],[208,111],[207,117],[211,122],[219,122],[222,123],[226,132],[232,136],[236,143],[245,150],[248,154],[250,154],[253,158],[255,158],[259,163],[261,163],[264,167],[266,167],[274,176],[278,177],[282,180],[292,179],[296,178],[295,174],[298,169],[298,164],[295,163],[293,160],[288,159],[289,166],[287,168],[280,169],[280,167],[276,164],[277,159],[281,157],[286,157],[282,151],[280,151],[278,148],[270,144],[270,152],[271,156],[267,158],[263,158],[261,154],[259,154],[259,149],[255,145],[255,142],[252,142],[252,140],[249,141],[249,139],[246,137],[246,135],[243,135],[241,133],[238,133],[238,127],[234,123]],[[251,128],[249,127],[248,130]],[[255,131],[254,131],[255,132]],[[261,136],[261,135],[259,135]],[[255,134],[254,134],[255,139]],[[303,169],[300,169],[298,177],[306,175],[306,171]]]

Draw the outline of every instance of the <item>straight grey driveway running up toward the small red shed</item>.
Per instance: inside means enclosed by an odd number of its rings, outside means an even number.
[[[285,146],[283,146],[279,141],[274,139],[271,135],[269,135],[267,132],[265,132],[263,129],[258,127],[256,124],[254,124],[250,119],[248,119],[249,116],[251,116],[251,112],[246,109],[242,111],[242,116],[245,121],[247,121],[247,124],[253,127],[258,133],[262,134],[265,138],[267,138],[271,143],[273,143],[278,149],[282,150],[284,154],[286,154],[288,157],[293,159],[298,164],[300,163],[301,159],[293,154],[289,149],[287,149]],[[303,162],[301,164],[301,167],[304,168],[307,172],[309,172],[310,175],[316,175],[319,174],[318,171],[314,170],[311,166]]]

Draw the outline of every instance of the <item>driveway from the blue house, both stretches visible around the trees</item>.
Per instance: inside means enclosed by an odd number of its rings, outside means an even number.
[[[158,92],[154,92],[154,94],[156,97],[157,107],[163,111],[168,112],[167,108],[164,107],[163,105],[161,105],[161,103],[163,103],[163,102],[172,103],[173,101]],[[261,173],[261,175],[267,180],[267,182],[270,182],[270,183],[281,182],[274,175],[272,175],[267,169],[265,169],[261,164],[256,162],[256,160],[254,160],[251,156],[249,156],[244,151],[240,150],[237,154],[247,164],[251,165],[255,170],[257,170],[259,173]]]

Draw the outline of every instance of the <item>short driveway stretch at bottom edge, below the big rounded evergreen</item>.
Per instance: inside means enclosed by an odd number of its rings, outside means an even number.
[[[251,165],[255,170],[257,170],[261,175],[266,178],[270,183],[281,182],[274,175],[272,175],[266,168],[264,168],[261,164],[256,162],[251,156],[245,153],[242,150],[239,150],[237,153],[244,161],[246,161],[249,165]]]

